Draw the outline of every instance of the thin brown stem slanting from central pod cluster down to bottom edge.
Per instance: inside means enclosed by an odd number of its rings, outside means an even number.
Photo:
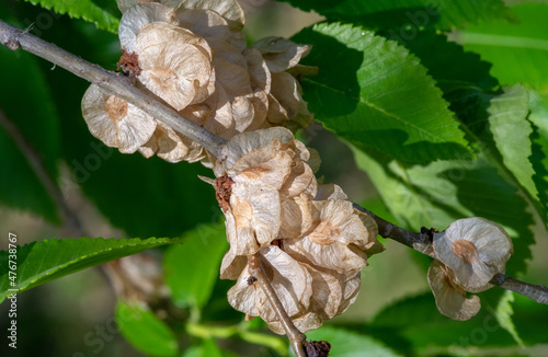
[[[266,274],[264,274],[260,257],[258,256],[258,254],[250,255],[248,256],[248,262],[250,267],[249,273],[251,274],[251,276],[256,278],[272,308],[274,309],[274,311],[276,311],[279,321],[284,326],[287,338],[289,338],[293,350],[295,350],[295,355],[297,357],[307,357],[305,346],[302,345],[302,343],[306,341],[306,336],[295,326],[292,319],[289,319],[289,316],[287,315],[282,301],[279,301],[279,298],[277,297],[276,291],[274,291],[271,281],[266,277]]]

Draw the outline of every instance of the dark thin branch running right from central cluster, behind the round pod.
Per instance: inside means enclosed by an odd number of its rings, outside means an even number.
[[[373,217],[378,226],[378,233],[380,237],[392,239],[401,244],[414,249],[415,251],[436,258],[436,255],[431,247],[433,232],[435,232],[435,230],[423,228],[420,233],[410,232],[376,216],[357,204],[354,204],[354,207]],[[535,300],[536,302],[548,304],[548,288],[543,285],[528,284],[509,277],[504,274],[496,274],[489,283],[523,295],[524,297]]]

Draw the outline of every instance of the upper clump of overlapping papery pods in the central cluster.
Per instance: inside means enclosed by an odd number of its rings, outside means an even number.
[[[221,277],[237,276],[241,269],[238,257],[270,245],[281,230],[299,237],[308,229],[308,201],[317,187],[313,173],[302,161],[309,157],[306,147],[284,128],[240,134],[225,146],[214,168],[217,177],[233,182],[224,208],[230,251],[222,261]],[[292,216],[297,211],[308,215],[308,221],[297,222]],[[284,217],[292,221],[285,222]]]

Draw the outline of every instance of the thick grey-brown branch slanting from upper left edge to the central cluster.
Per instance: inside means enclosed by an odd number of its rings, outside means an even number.
[[[69,72],[101,87],[106,92],[132,103],[174,130],[196,141],[215,157],[220,154],[220,149],[226,143],[226,140],[221,137],[182,117],[173,108],[144,93],[133,85],[127,77],[107,71],[101,66],[90,64],[54,44],[13,27],[1,20],[0,43],[13,50],[22,48],[30,51],[31,54],[47,59],[65,68]]]

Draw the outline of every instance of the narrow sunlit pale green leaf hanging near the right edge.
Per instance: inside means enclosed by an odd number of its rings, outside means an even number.
[[[490,130],[506,168],[520,184],[538,200],[538,191],[533,182],[535,170],[529,161],[533,133],[526,119],[529,113],[527,91],[520,84],[506,88],[504,93],[492,99],[488,108]]]

